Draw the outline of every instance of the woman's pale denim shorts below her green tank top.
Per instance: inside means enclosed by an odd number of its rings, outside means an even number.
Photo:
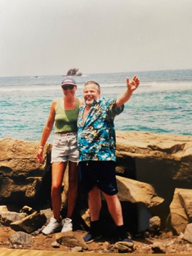
[[[76,132],[69,132],[68,134],[55,133],[54,135],[51,163],[66,161],[75,163],[79,161]]]

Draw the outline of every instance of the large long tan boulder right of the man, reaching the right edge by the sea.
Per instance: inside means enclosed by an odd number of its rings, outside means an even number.
[[[165,201],[154,215],[165,223],[175,188],[191,188],[192,137],[117,131],[117,175],[153,186]]]

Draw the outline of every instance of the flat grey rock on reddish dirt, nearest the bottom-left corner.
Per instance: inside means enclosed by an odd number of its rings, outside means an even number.
[[[32,235],[25,232],[16,232],[10,235],[9,240],[12,245],[30,245],[34,242]]]

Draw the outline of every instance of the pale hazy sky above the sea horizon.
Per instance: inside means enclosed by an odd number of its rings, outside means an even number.
[[[192,68],[191,0],[0,0],[0,76]]]

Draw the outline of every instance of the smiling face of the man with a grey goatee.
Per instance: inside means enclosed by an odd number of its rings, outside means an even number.
[[[99,99],[101,92],[97,85],[89,84],[84,87],[83,90],[85,103],[91,106],[94,101]]]

